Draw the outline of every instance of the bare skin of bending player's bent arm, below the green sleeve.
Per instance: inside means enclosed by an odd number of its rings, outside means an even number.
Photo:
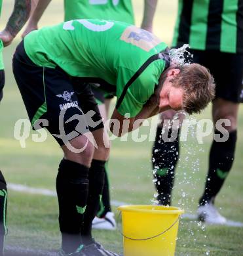
[[[155,95],[152,95],[151,98],[147,100],[146,104],[143,106],[138,115],[136,115],[135,117],[126,118],[125,116],[122,116],[115,108],[111,119],[118,120],[120,125],[119,127],[117,127],[116,125],[113,125],[114,122],[111,122],[110,130],[114,135],[121,137],[127,132],[138,129],[138,127],[140,127],[140,125],[143,123],[144,119],[155,116],[157,114],[159,114],[159,104],[157,101],[157,97]],[[125,120],[129,121],[128,129],[123,127],[123,123]]]

